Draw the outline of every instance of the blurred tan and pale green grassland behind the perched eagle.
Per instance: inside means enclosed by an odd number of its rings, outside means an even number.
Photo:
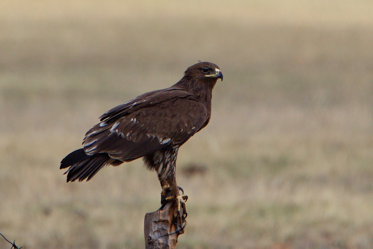
[[[0,232],[23,248],[143,248],[142,161],[66,183],[110,108],[219,65],[179,151],[178,248],[373,248],[371,1],[1,1]],[[0,248],[8,248],[0,239]]]

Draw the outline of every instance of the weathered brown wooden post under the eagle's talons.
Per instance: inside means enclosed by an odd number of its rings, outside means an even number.
[[[178,214],[175,201],[147,213],[144,219],[145,249],[175,249],[179,234],[184,233],[185,218],[185,214]]]

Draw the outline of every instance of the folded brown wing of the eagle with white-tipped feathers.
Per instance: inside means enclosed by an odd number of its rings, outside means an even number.
[[[85,135],[85,153],[105,152],[111,158],[132,161],[184,144],[208,120],[206,107],[186,91],[164,90],[141,95],[144,98],[139,96],[101,116],[101,123]]]

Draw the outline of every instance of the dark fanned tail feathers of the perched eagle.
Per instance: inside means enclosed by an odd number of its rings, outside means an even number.
[[[108,161],[114,160],[106,153],[87,155],[83,149],[77,149],[62,159],[60,169],[70,167],[64,173],[68,174],[67,182],[89,181]]]

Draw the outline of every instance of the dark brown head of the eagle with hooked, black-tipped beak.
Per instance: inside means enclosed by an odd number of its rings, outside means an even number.
[[[188,67],[185,70],[184,77],[190,80],[207,81],[216,83],[220,78],[223,81],[223,74],[219,67],[211,62],[200,62]]]

